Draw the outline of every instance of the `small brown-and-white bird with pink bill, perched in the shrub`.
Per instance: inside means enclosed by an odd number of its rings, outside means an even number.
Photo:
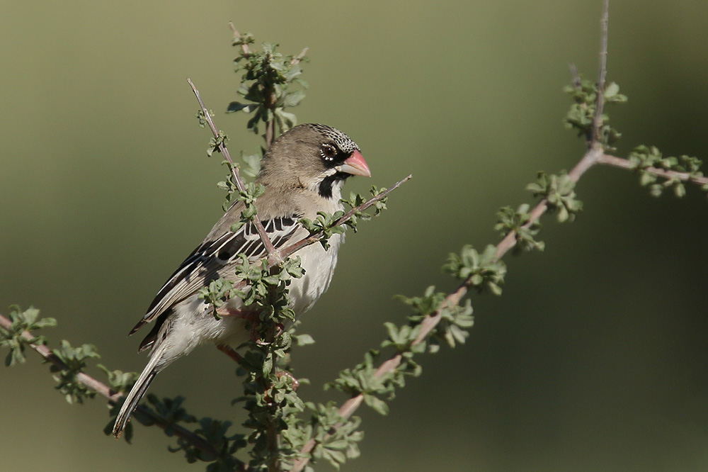
[[[299,218],[312,220],[318,211],[341,210],[341,188],[352,175],[370,176],[371,172],[359,147],[340,130],[304,124],[278,137],[263,155],[256,178],[256,182],[265,186],[265,193],[256,201],[258,218],[273,246],[285,247],[309,234],[298,223]],[[200,288],[219,277],[239,281],[234,269],[240,262],[236,254],[246,254],[251,262],[267,255],[253,223],[232,232],[242,210],[244,203],[236,201],[224,213],[160,289],[147,314],[130,332],[132,335],[155,321],[139,346],[139,352],[152,349],[150,359],[118,413],[113,426],[115,437],[120,436],[150,383],[166,366],[205,342],[238,347],[249,340],[246,320],[238,316],[243,308],[240,299],[227,303],[227,310],[235,316],[217,319],[210,306],[199,298]],[[342,241],[343,235],[333,235],[328,250],[321,245],[309,245],[295,253],[305,271],[302,278],[292,279],[289,287],[296,315],[309,310],[329,287]]]

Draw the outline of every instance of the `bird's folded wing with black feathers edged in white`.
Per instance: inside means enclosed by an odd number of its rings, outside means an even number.
[[[275,249],[284,247],[287,242],[295,242],[299,232],[306,236],[307,231],[297,223],[297,216],[282,216],[263,220],[266,234]],[[299,231],[298,231],[299,230]],[[249,261],[255,262],[267,256],[263,241],[256,232],[256,225],[246,223],[236,232],[226,231],[213,240],[205,240],[184,260],[168,281],[162,286],[147,309],[146,315],[130,331],[132,335],[140,327],[157,318],[176,303],[197,293],[210,281],[224,276],[234,280],[234,274],[224,268],[236,261],[238,254],[246,254]]]

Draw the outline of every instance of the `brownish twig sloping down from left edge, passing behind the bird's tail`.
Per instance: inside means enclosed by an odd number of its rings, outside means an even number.
[[[3,315],[0,315],[0,327],[3,327],[5,330],[10,330],[12,327],[12,321],[8,318],[5,318]],[[40,354],[40,356],[42,356],[45,361],[54,364],[55,366],[57,366],[58,369],[62,371],[70,370],[67,364],[64,364],[64,361],[62,361],[62,359],[59,359],[59,357],[57,357],[57,355],[52,352],[52,349],[45,346],[44,344],[33,343],[32,341],[33,339],[35,339],[35,336],[31,332],[23,331],[21,336],[23,337],[23,339],[25,339],[25,341],[27,341],[28,346],[31,347],[35,352]],[[76,373],[76,381],[90,388],[94,392],[98,393],[98,395],[101,395],[103,398],[106,398],[108,400],[108,403],[110,403],[111,405],[118,403],[120,398],[123,396],[122,393],[116,392],[109,386],[105,385],[105,383],[97,380],[96,378],[93,378],[92,376],[89,376],[89,374],[84,372]],[[211,444],[206,442],[197,434],[191,432],[189,429],[181,427],[180,425],[168,424],[164,420],[164,418],[159,415],[156,415],[155,412],[153,412],[149,408],[144,407],[143,405],[138,405],[137,410],[142,413],[142,415],[146,415],[152,418],[152,420],[155,422],[155,425],[157,425],[161,429],[167,429],[168,427],[171,428],[175,432],[177,437],[185,439],[185,441],[188,441],[200,451],[205,452],[210,456],[219,456],[218,451],[216,451],[211,446]],[[246,470],[246,468],[244,468],[244,464],[242,463],[239,464],[239,467],[242,471]]]

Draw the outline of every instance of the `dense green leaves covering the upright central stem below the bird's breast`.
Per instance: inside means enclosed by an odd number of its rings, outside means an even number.
[[[251,264],[244,254],[238,257],[241,263],[235,266],[234,275],[245,281],[246,287],[236,289],[227,281],[215,281],[210,284],[215,290],[205,294],[205,298],[218,298],[220,303],[241,298],[244,318],[251,322],[253,341],[239,363],[245,375],[244,395],[234,403],[243,403],[249,413],[243,425],[251,433],[244,441],[250,446],[249,468],[259,471],[273,461],[292,459],[302,446],[292,439],[299,437],[295,429],[301,420],[297,416],[305,410],[296,391],[299,381],[287,371],[278,370],[278,364],[287,359],[293,342],[292,331],[283,329],[295,321],[287,288],[291,279],[301,277],[303,271],[297,257],[270,268],[265,259]],[[311,338],[302,337],[302,342],[309,341]]]

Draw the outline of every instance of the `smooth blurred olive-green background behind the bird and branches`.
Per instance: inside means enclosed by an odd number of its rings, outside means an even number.
[[[395,293],[435,284],[449,252],[498,242],[500,206],[530,201],[535,173],[570,169],[583,144],[564,130],[568,63],[595,77],[596,1],[5,0],[0,9],[0,306],[35,305],[59,339],[91,342],[111,369],[140,370],[127,338],[154,293],[221,214],[197,126],[193,79],[232,153],[259,138],[236,98],[227,21],[283,52],[310,47],[299,121],[345,130],[389,211],[350,235],[329,293],[295,352],[313,400],[401,322]],[[609,78],[618,154],[657,145],[708,159],[708,3],[612,2]],[[469,342],[421,359],[388,417],[360,410],[351,471],[704,471],[708,469],[708,247],[705,197],[651,198],[636,176],[592,169],[575,223],[544,220],[547,249],[508,259],[501,298],[473,298]],[[2,313],[6,313],[3,309]],[[197,415],[232,417],[233,365],[202,348],[152,392]],[[96,372],[94,372],[96,373]],[[98,373],[97,373],[98,375]],[[3,470],[203,470],[101,429],[103,401],[52,391],[36,356],[0,370]],[[323,464],[324,470],[329,466]]]

